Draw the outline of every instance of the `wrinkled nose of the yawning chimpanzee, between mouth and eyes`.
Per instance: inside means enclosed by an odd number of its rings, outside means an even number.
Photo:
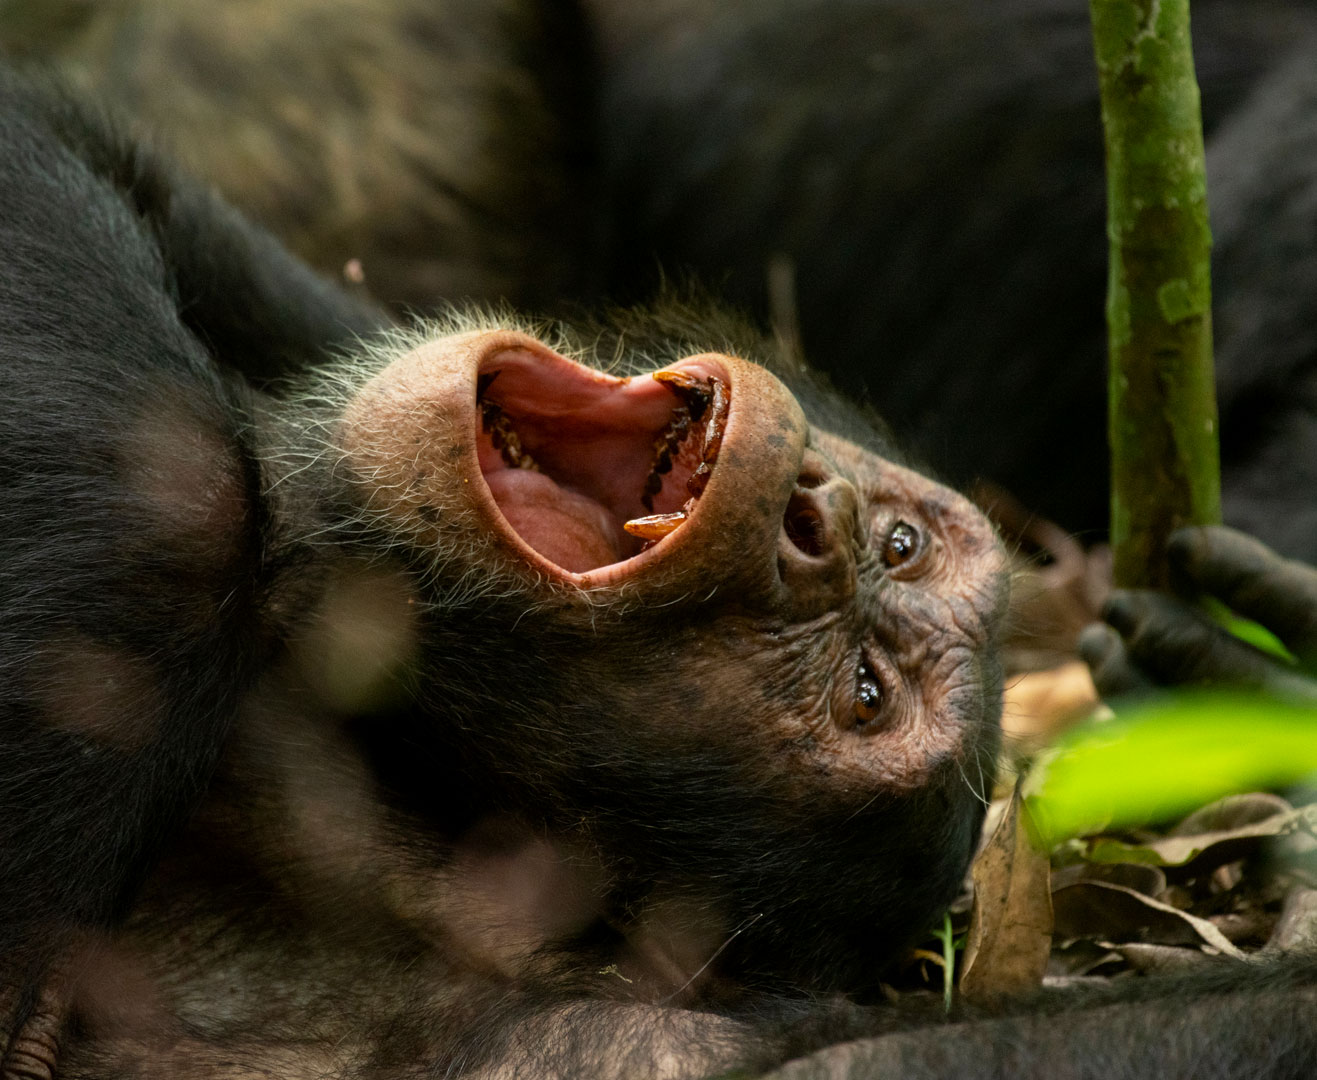
[[[777,574],[792,618],[822,615],[855,595],[861,547],[859,491],[807,452],[777,539]]]

